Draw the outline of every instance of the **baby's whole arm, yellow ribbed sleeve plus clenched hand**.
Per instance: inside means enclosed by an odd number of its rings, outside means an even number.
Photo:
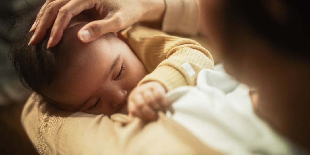
[[[191,39],[135,26],[128,31],[128,43],[150,73],[129,95],[128,111],[147,121],[156,119],[157,111],[169,106],[166,92],[195,86],[198,72],[214,67],[209,51]]]

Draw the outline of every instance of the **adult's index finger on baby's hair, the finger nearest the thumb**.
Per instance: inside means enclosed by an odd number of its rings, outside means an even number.
[[[54,47],[60,42],[64,29],[69,24],[70,20],[84,10],[91,9],[95,6],[92,1],[70,1],[60,8],[54,25],[51,29],[51,37],[47,43],[48,47]]]

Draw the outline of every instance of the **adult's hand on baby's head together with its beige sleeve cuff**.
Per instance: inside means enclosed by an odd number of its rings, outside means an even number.
[[[91,42],[141,21],[160,24],[168,33],[195,35],[199,29],[198,0],[47,0],[31,28],[34,35],[29,44],[41,42],[54,23],[48,47],[55,46],[72,17],[91,8],[95,8],[96,15],[94,12],[91,15],[97,20],[79,30],[82,42]]]

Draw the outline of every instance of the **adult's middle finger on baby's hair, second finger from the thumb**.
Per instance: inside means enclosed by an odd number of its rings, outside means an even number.
[[[29,44],[35,45],[42,41],[42,39],[45,37],[47,30],[53,24],[59,9],[64,6],[64,4],[66,4],[68,1],[69,0],[57,0],[47,4],[43,15],[38,20],[35,32],[30,39]]]

